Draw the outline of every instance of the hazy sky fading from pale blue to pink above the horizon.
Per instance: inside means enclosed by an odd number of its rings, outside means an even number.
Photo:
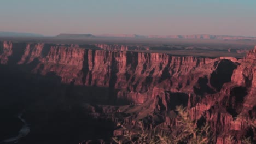
[[[0,31],[256,36],[255,0],[1,0]]]

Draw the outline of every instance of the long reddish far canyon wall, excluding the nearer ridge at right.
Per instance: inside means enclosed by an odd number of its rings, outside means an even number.
[[[63,83],[110,88],[117,92],[118,98],[133,103],[153,99],[159,89],[193,92],[199,77],[210,77],[214,62],[218,63],[220,59],[237,61],[229,57],[212,59],[164,53],[108,51],[109,47],[125,46],[97,46],[106,50],[4,41],[0,59],[1,64],[29,65],[27,70],[34,74],[54,72],[62,77]]]

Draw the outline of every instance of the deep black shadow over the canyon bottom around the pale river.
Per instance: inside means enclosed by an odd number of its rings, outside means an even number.
[[[86,139],[108,139],[112,136],[112,122],[92,119],[80,109],[80,104],[95,98],[95,92],[99,92],[96,95],[104,95],[109,89],[75,86],[74,81],[63,84],[61,77],[54,72],[43,76],[6,65],[0,65],[0,69],[0,109],[5,112],[1,112],[2,116],[26,110],[24,118],[30,124],[30,134],[19,143],[78,143]],[[91,95],[86,91],[90,91]],[[102,95],[98,95],[93,103],[109,103],[108,98],[101,99]],[[19,119],[1,122],[13,125],[9,131],[5,131],[7,135],[2,135],[3,139],[15,135],[13,133],[18,132],[15,129],[20,128]]]

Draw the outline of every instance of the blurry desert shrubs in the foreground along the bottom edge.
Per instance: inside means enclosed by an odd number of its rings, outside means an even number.
[[[189,117],[189,111],[187,107],[176,106],[178,113],[178,123],[180,128],[177,131],[169,131],[167,133],[160,133],[157,129],[148,131],[141,124],[140,131],[138,133],[132,133],[130,129],[127,129],[125,125],[118,123],[118,126],[123,129],[124,135],[121,137],[113,137],[115,143],[189,143],[189,144],[208,144],[216,143],[214,133],[211,130],[208,123],[196,123]],[[255,119],[247,119],[247,122],[251,124],[251,127],[255,128]],[[228,136],[225,139],[225,143],[236,143],[237,141],[233,136]],[[241,141],[244,144],[253,143],[251,137],[245,137]]]

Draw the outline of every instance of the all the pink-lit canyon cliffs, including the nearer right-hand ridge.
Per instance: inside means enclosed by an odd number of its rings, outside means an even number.
[[[81,49],[76,45],[14,45],[4,41],[0,62],[31,65],[31,73],[54,72],[63,83],[115,92],[102,95],[104,99],[111,95],[137,104],[150,101],[150,109],[158,111],[173,111],[182,104],[189,107],[191,118],[206,119],[219,135],[233,131],[230,135],[240,139],[249,129],[247,122],[235,117],[253,113],[256,106],[256,47],[238,60],[131,52],[124,45],[95,46],[103,50]],[[175,125],[175,118],[166,119],[162,123]],[[115,135],[119,133],[115,131]],[[225,137],[218,137],[217,143],[225,143]]]

